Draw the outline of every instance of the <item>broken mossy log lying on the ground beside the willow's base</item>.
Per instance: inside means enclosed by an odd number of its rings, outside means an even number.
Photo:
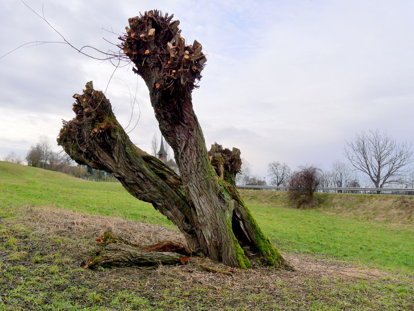
[[[191,255],[181,243],[163,241],[153,245],[137,245],[111,232],[103,233],[96,241],[103,247],[98,250],[96,256],[84,262],[84,268],[185,265],[188,256]]]

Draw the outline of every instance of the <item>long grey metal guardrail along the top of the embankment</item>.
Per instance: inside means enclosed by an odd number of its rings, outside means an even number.
[[[240,185],[237,186],[239,189],[258,189],[258,190],[279,190],[288,191],[291,187],[283,186],[249,186]],[[318,187],[317,192],[333,192],[333,193],[359,193],[359,194],[403,194],[414,195],[414,189],[408,188],[339,188],[339,187]],[[368,192],[368,193],[367,193]],[[388,193],[384,193],[388,192]],[[390,193],[391,192],[391,193]],[[397,193],[392,193],[397,192]]]

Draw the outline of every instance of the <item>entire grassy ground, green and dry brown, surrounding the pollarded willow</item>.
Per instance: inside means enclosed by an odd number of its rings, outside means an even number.
[[[217,264],[196,259],[188,266],[151,271],[84,270],[79,262],[93,254],[93,238],[104,229],[138,234],[143,242],[175,239],[177,231],[135,223],[173,228],[120,184],[0,162],[0,309],[414,310],[414,282],[404,277],[414,271],[413,227],[404,214],[412,199],[392,197],[391,204],[385,202],[388,196],[321,194],[320,208],[302,210],[288,208],[281,193],[246,191],[243,196],[298,272],[256,267],[212,275],[198,264]],[[373,208],[377,201],[397,216],[378,217],[384,212]]]

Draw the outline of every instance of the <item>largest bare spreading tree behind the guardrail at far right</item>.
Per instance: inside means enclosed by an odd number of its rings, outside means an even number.
[[[382,188],[402,181],[413,153],[411,144],[398,144],[387,131],[380,134],[377,129],[368,134],[361,131],[350,141],[345,141],[344,155],[355,170],[368,175],[376,188]]]

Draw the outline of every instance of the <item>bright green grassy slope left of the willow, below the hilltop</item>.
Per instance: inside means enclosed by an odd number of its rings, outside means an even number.
[[[132,197],[120,183],[88,182],[3,161],[0,161],[0,204],[53,206],[172,226],[151,204]]]

